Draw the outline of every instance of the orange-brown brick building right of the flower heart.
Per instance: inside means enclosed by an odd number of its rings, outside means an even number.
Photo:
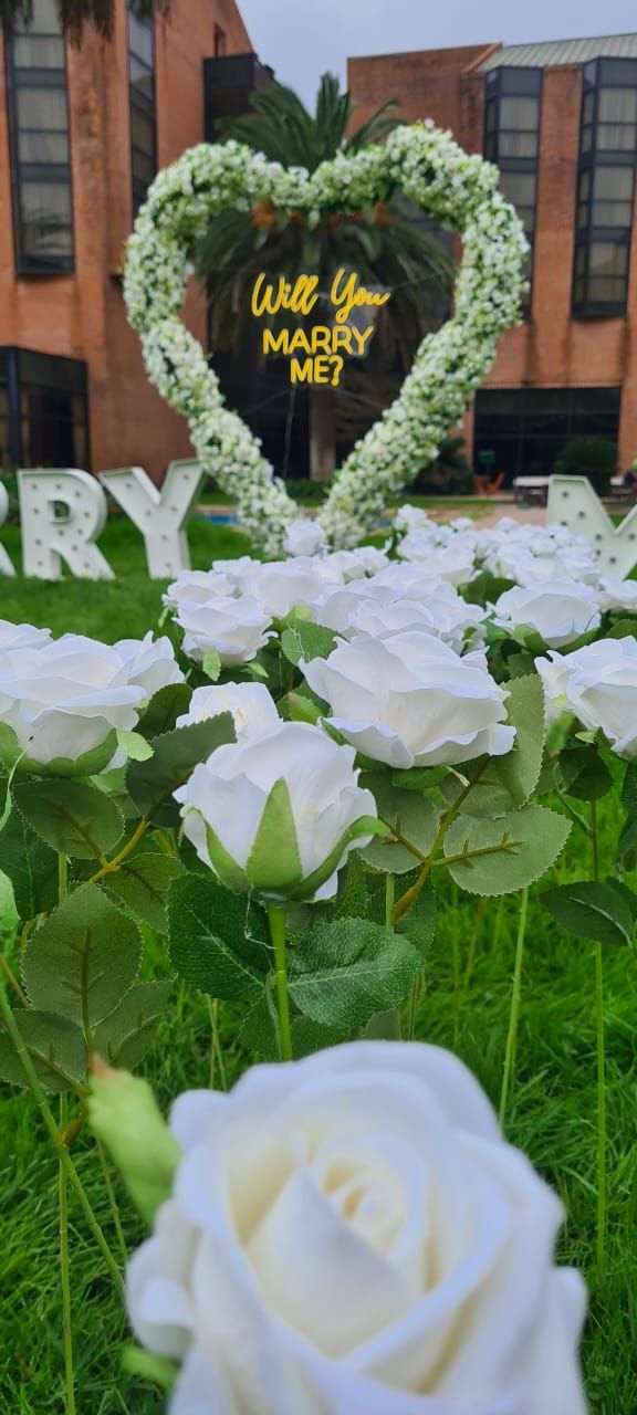
[[[595,433],[637,457],[637,34],[350,59],[362,122],[399,98],[500,164],[532,245],[525,323],[467,416],[474,458],[548,473]]]

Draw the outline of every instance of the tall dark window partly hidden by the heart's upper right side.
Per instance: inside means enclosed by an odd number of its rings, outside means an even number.
[[[504,195],[517,207],[531,253],[532,276],[535,207],[538,198],[539,116],[542,69],[501,68],[487,74],[484,156],[497,163]],[[527,301],[531,304],[531,297]]]

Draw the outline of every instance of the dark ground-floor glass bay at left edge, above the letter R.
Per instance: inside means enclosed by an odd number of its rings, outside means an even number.
[[[0,348],[0,466],[89,470],[86,365]]]

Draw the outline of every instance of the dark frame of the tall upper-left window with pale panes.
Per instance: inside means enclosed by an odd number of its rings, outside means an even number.
[[[25,34],[37,37],[41,31],[27,30]],[[17,35],[20,38],[20,35]],[[10,185],[11,185],[11,225],[13,225],[13,248],[14,248],[14,266],[16,275],[18,276],[65,276],[72,275],[75,270],[75,208],[74,208],[74,175],[72,175],[72,144],[71,144],[71,123],[69,123],[69,103],[68,103],[68,67],[67,67],[67,44],[59,31],[58,35],[47,34],[45,38],[59,38],[61,40],[61,55],[62,64],[59,67],[48,65],[45,68],[38,68],[35,65],[18,65],[16,64],[14,42],[7,40],[4,44],[4,72],[6,72],[6,86],[7,86],[7,126],[8,126],[8,166],[10,166]],[[24,91],[40,91],[44,89],[58,92],[64,95],[64,106],[67,116],[67,127],[55,129],[55,132],[67,133],[67,160],[64,163],[52,161],[24,161],[20,157],[20,134],[23,132],[47,132],[47,129],[21,129],[18,122],[18,93]],[[67,187],[68,190],[68,207],[69,207],[69,235],[71,235],[71,250],[67,255],[54,256],[33,256],[27,253],[25,249],[25,228],[28,221],[23,214],[23,187],[28,183],[37,183],[42,187]]]

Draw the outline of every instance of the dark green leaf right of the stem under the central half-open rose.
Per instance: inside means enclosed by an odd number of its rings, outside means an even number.
[[[313,1022],[351,1032],[396,1007],[419,971],[420,957],[406,938],[362,918],[340,918],[290,954],[289,992]]]

